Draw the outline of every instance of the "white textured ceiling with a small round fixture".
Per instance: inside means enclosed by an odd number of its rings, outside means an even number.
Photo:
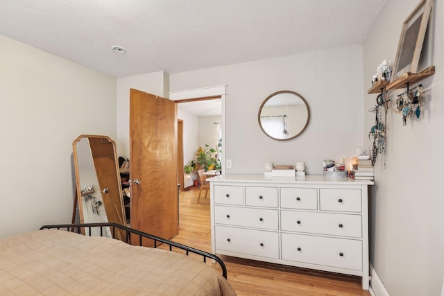
[[[0,0],[0,34],[121,78],[361,44],[386,1]]]

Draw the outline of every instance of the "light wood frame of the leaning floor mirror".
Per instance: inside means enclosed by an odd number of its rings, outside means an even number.
[[[80,223],[85,223],[85,216],[83,213],[83,200],[82,200],[82,193],[81,193],[81,184],[80,184],[80,171],[79,171],[79,167],[78,167],[78,151],[77,151],[77,143],[80,142],[81,139],[87,139],[89,141],[89,139],[101,139],[101,141],[106,141],[107,143],[111,143],[112,147],[113,147],[113,157],[114,157],[114,164],[115,164],[115,172],[116,172],[116,182],[117,182],[117,188],[118,190],[118,195],[119,195],[119,202],[120,202],[120,207],[119,209],[121,209],[122,213],[119,212],[119,215],[121,215],[121,220],[122,223],[119,223],[119,221],[112,221],[110,220],[110,217],[108,216],[108,213],[106,211],[106,204],[104,203],[104,207],[105,207],[105,214],[106,217],[108,219],[108,222],[114,222],[117,224],[121,224],[123,226],[126,226],[126,215],[125,215],[125,208],[123,205],[123,193],[121,190],[121,179],[120,179],[120,173],[119,173],[119,163],[117,160],[117,152],[116,152],[116,143],[108,136],[103,136],[103,135],[96,135],[96,134],[80,134],[80,136],[77,137],[77,139],[74,140],[74,142],[72,143],[73,146],[73,157],[74,157],[74,168],[75,168],[75,173],[76,173],[76,198],[77,198],[77,207],[78,207],[78,216],[80,219]],[[93,159],[94,160],[94,159]],[[97,168],[96,168],[96,173],[97,173]],[[99,189],[99,193],[102,194],[102,189]],[[115,194],[115,193],[114,193]],[[102,195],[102,199],[103,199],[103,195]]]

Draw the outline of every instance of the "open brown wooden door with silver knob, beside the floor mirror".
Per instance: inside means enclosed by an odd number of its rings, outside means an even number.
[[[178,234],[176,123],[176,103],[130,89],[130,224],[162,238]]]

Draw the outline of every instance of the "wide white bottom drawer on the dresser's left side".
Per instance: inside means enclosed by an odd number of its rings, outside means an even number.
[[[279,258],[278,232],[266,232],[219,225],[216,225],[214,228],[216,250],[273,259]]]

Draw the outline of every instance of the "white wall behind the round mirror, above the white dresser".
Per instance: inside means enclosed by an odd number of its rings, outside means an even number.
[[[323,159],[355,156],[363,144],[361,46],[285,58],[233,64],[170,75],[171,91],[228,85],[226,153],[234,173],[263,173],[265,162],[305,162],[307,173],[322,173]],[[311,109],[302,136],[275,141],[262,133],[257,112],[273,92],[292,90]]]

